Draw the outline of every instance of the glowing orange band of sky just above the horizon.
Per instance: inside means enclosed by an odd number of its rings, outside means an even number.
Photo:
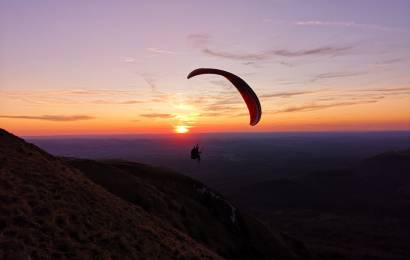
[[[239,94],[238,94],[239,96]],[[240,97],[238,101],[242,102]],[[265,102],[275,102],[265,100]],[[290,102],[287,100],[286,102]],[[277,103],[280,103],[279,101]],[[313,104],[306,102],[307,104]],[[178,126],[186,126],[190,132],[257,132],[257,131],[368,131],[409,130],[408,104],[410,97],[397,97],[374,103],[344,105],[293,112],[265,111],[261,122],[251,127],[245,104],[239,109],[228,109],[222,114],[208,116],[208,111],[197,108],[168,108],[169,113],[138,114],[130,105],[103,105],[102,107],[78,106],[76,113],[94,111],[94,118],[87,120],[69,119],[20,119],[1,118],[0,124],[20,135],[65,135],[65,134],[138,134],[170,133]],[[264,101],[262,101],[264,104]],[[199,106],[199,105],[198,105]],[[50,106],[51,107],[51,106]],[[59,107],[59,105],[56,105]],[[274,107],[274,106],[273,106]],[[308,105],[306,106],[308,107]],[[48,106],[43,106],[46,114]],[[19,108],[16,108],[19,109]],[[194,110],[194,112],[192,112]],[[64,111],[64,110],[61,110]],[[70,110],[68,110],[70,111]],[[62,113],[62,112],[61,112]],[[239,116],[233,116],[239,114]]]

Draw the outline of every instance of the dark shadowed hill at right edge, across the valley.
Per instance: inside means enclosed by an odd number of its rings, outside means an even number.
[[[410,151],[247,185],[242,208],[324,259],[410,259]]]

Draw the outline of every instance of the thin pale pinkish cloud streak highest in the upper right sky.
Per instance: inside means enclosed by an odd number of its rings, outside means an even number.
[[[296,21],[294,25],[299,26],[322,26],[322,27],[342,27],[342,28],[357,28],[357,29],[368,29],[376,31],[386,31],[386,32],[404,32],[405,30],[398,27],[389,27],[377,24],[365,24],[356,22],[328,22],[328,21]]]

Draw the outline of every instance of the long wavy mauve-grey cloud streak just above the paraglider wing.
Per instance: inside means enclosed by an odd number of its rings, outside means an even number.
[[[304,56],[323,56],[323,55],[338,55],[346,53],[351,50],[353,46],[323,46],[318,48],[303,49],[303,50],[286,50],[273,49],[259,53],[231,53],[225,51],[216,51],[209,48],[202,49],[202,52],[214,56],[231,60],[245,60],[245,61],[262,61],[271,59],[273,56],[280,57],[304,57]],[[283,64],[283,63],[281,63]],[[289,65],[289,64],[286,64]]]

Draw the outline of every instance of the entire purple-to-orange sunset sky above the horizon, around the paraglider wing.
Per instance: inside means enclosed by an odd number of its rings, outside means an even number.
[[[410,130],[410,1],[0,0],[19,135]],[[217,75],[259,96],[262,119]]]

